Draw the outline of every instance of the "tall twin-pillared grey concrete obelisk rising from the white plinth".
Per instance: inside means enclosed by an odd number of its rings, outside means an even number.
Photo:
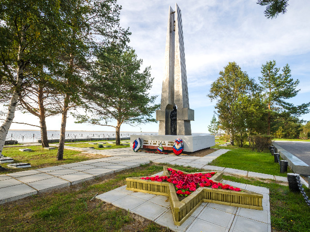
[[[194,110],[189,109],[188,102],[181,10],[177,4],[175,9],[173,11],[169,6],[165,72],[156,120],[159,121],[158,134],[170,135],[170,113],[176,105],[177,135],[191,135],[190,121],[194,120]]]

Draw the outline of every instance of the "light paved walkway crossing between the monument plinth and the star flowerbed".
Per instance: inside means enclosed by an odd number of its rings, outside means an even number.
[[[109,150],[89,150],[87,148],[67,146],[65,146],[65,148],[80,150],[87,153],[102,154],[110,157],[2,174],[0,175],[0,203],[11,202],[39,192],[46,192],[51,189],[78,184],[107,174],[120,172],[124,169],[137,167],[140,166],[140,164],[146,164],[150,161],[156,163],[178,164],[202,168],[205,170],[223,171],[229,174],[248,177],[287,181],[286,177],[208,165],[209,162],[229,151],[227,149],[219,149],[205,157],[195,157],[186,155],[161,155],[144,152],[135,153],[131,148]]]

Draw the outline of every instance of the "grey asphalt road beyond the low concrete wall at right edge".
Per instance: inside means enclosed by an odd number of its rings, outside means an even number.
[[[310,166],[310,142],[275,141],[275,143]]]

